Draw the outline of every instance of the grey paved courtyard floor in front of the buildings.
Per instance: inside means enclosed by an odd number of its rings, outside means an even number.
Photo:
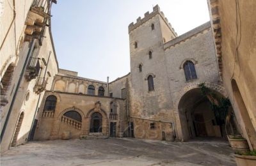
[[[1,165],[236,165],[223,140],[33,141],[1,155]]]

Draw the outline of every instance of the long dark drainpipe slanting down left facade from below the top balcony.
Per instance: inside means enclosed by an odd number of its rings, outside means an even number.
[[[24,74],[25,74],[25,72],[26,72],[26,67],[28,66],[29,57],[31,56],[32,50],[33,50],[33,48],[34,48],[34,45],[35,45],[35,39],[33,39],[33,40],[31,41],[31,45],[30,45],[29,51],[28,51],[28,56],[26,57],[25,63],[24,63],[24,65],[23,65],[23,67],[22,67],[22,70],[21,70],[21,72],[20,72],[19,80],[18,80],[18,82],[17,82],[17,86],[16,86],[15,92],[14,92],[14,94],[13,94],[13,99],[12,99],[12,102],[11,102],[11,104],[10,104],[10,109],[8,110],[8,114],[7,114],[7,116],[6,116],[6,120],[4,121],[4,126],[3,126],[3,130],[2,130],[2,132],[1,132],[1,139],[0,139],[0,142],[2,142],[2,140],[3,140],[4,132],[5,132],[5,130],[6,130],[6,126],[7,126],[7,124],[8,124],[8,121],[9,121],[9,118],[10,118],[10,114],[11,114],[11,112],[12,112],[13,105],[14,105],[14,103],[15,103],[16,96],[17,96],[17,94],[18,94],[18,92],[19,92],[20,83],[21,83],[21,81],[22,81],[22,79],[23,79],[23,77],[24,77]]]

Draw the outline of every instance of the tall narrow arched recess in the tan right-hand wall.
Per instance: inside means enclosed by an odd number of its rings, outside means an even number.
[[[232,84],[232,91],[234,94],[234,98],[236,100],[237,107],[241,113],[241,117],[244,122],[244,127],[249,138],[248,143],[251,149],[256,149],[256,131],[253,128],[253,124],[248,114],[248,110],[245,107],[244,100],[236,84],[236,80],[233,79],[231,84]]]

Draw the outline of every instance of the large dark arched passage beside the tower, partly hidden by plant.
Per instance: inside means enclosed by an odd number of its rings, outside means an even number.
[[[213,92],[216,96],[223,97],[217,91]],[[199,87],[189,90],[180,98],[178,109],[184,140],[195,137],[226,137],[225,121],[211,109],[211,103]]]

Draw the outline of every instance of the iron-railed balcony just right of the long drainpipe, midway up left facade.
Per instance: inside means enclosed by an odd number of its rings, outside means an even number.
[[[25,77],[28,81],[35,79],[40,72],[40,63],[38,57],[30,57],[26,68]]]

